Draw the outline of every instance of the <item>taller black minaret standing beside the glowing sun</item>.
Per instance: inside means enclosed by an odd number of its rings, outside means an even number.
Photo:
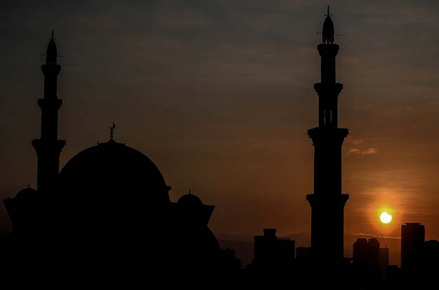
[[[337,127],[337,98],[343,89],[336,82],[334,25],[329,15],[323,24],[321,81],[314,85],[319,96],[319,125],[308,130],[314,145],[314,193],[306,195],[311,206],[311,248],[317,260],[343,258],[343,208],[349,198],[341,193],[341,146],[348,129]]]

